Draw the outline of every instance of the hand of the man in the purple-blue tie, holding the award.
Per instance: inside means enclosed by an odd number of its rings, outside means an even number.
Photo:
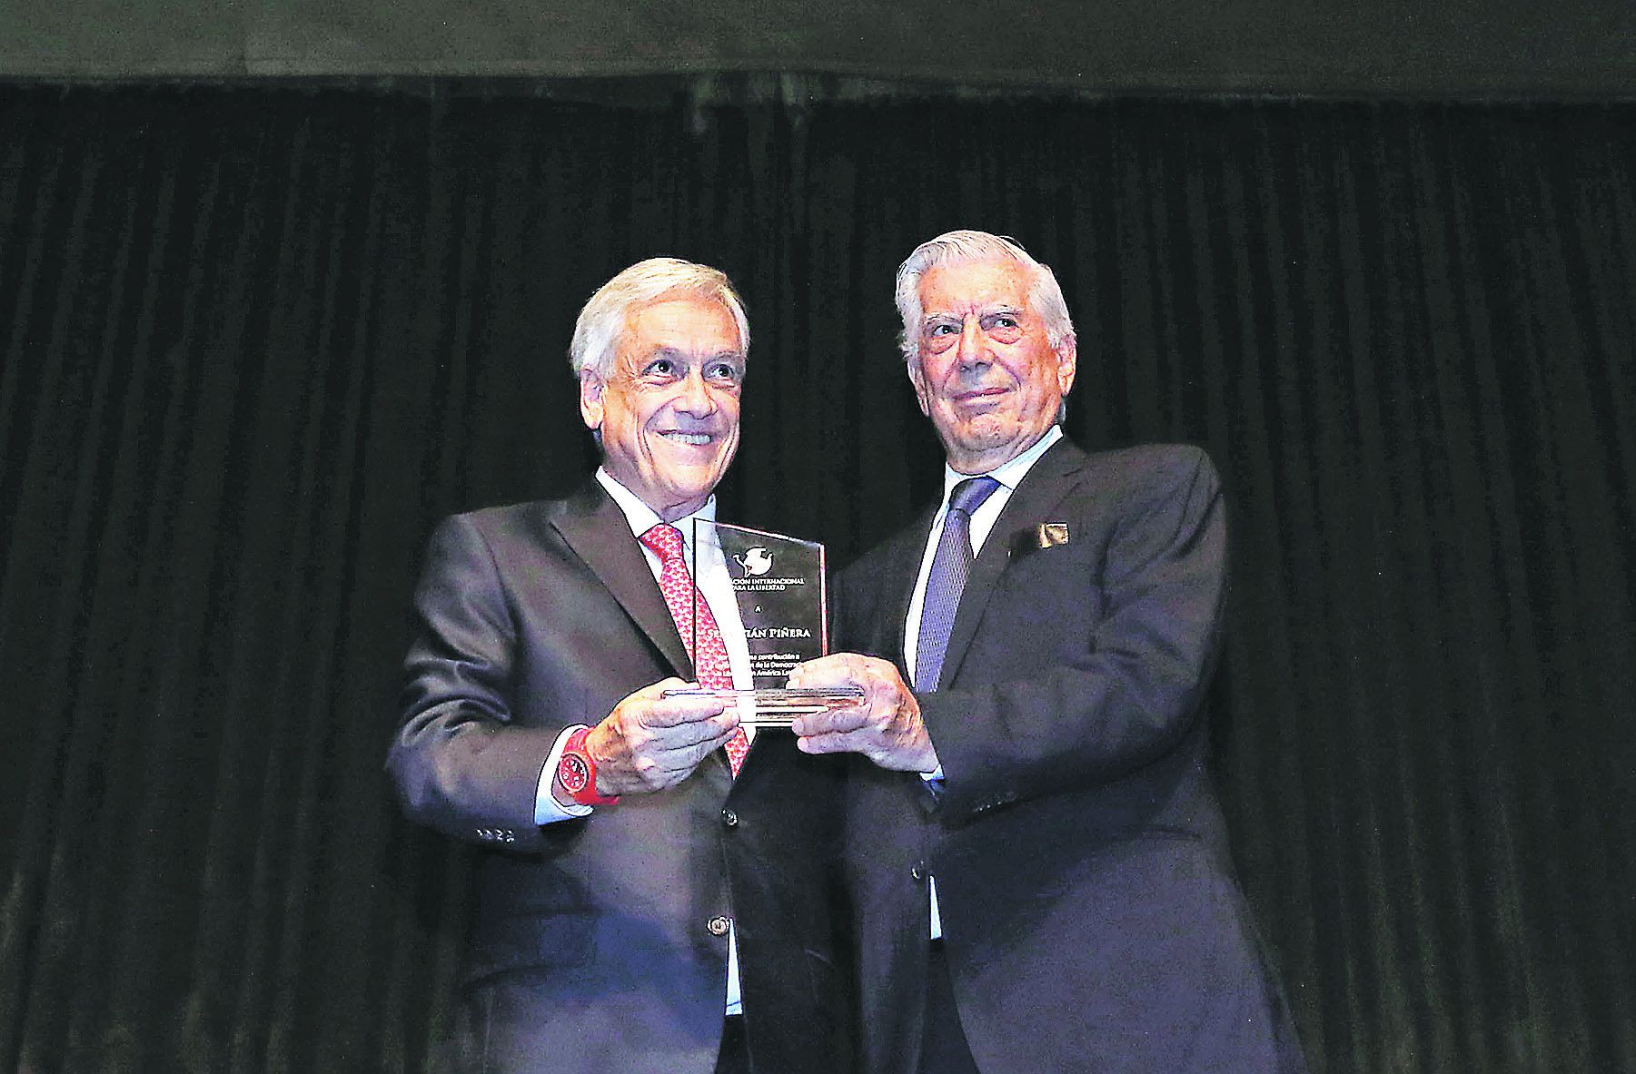
[[[836,652],[790,672],[790,687],[861,687],[864,701],[852,708],[798,716],[793,729],[803,754],[862,754],[882,768],[936,772],[919,703],[888,660]]]

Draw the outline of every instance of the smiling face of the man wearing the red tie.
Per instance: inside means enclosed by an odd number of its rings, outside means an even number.
[[[710,499],[738,451],[744,351],[733,314],[676,294],[625,317],[614,371],[579,376],[579,414],[602,430],[602,464],[659,518]]]

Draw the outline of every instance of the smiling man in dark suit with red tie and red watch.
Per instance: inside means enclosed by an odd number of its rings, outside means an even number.
[[[839,759],[664,696],[751,685],[708,526],[748,345],[717,270],[622,271],[571,347],[596,477],[432,536],[388,770],[412,819],[486,848],[458,1071],[846,1069]]]

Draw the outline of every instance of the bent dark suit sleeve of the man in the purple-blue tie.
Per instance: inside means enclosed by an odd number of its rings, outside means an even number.
[[[1132,481],[1114,510],[1103,610],[1083,656],[1019,680],[918,695],[944,768],[946,821],[1117,780],[1165,755],[1198,716],[1227,588],[1216,471],[1202,451],[1180,453]]]

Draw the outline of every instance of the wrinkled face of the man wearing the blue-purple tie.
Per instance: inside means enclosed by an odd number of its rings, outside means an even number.
[[[1075,350],[1052,350],[1009,258],[936,265],[919,278],[910,381],[949,466],[982,474],[1027,451],[1073,387]]]

